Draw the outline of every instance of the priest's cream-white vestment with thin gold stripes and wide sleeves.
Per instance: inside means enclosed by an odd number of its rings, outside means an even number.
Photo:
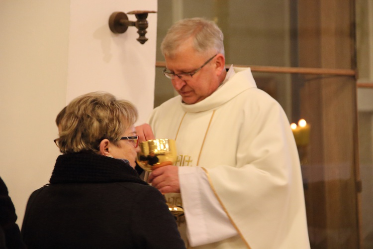
[[[231,67],[196,104],[168,100],[149,124],[156,138],[176,139],[181,195],[167,199],[185,209],[190,246],[310,248],[294,137],[250,68]]]

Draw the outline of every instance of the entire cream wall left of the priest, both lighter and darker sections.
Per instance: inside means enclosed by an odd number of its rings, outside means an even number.
[[[138,123],[152,110],[157,14],[144,45],[135,27],[116,35],[107,24],[112,12],[131,10],[157,10],[157,1],[0,0],[0,176],[18,225],[60,154],[54,121],[66,103],[102,90],[132,101]]]

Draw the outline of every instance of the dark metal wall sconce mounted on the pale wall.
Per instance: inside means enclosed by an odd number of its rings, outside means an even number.
[[[147,33],[146,29],[148,28],[148,13],[156,13],[156,11],[147,11],[147,10],[134,10],[127,12],[127,14],[135,14],[137,21],[130,21],[128,17],[123,12],[113,12],[109,17],[109,27],[110,30],[115,34],[121,34],[127,31],[128,26],[135,26],[139,34],[138,40],[141,44],[144,44],[148,38],[145,37]]]

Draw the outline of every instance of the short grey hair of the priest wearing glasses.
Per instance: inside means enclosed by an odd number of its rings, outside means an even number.
[[[161,44],[164,56],[175,56],[178,47],[189,37],[193,37],[194,49],[205,53],[214,50],[224,55],[224,35],[215,22],[195,17],[176,22],[167,31]]]

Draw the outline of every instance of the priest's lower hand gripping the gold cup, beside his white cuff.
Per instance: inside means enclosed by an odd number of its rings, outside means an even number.
[[[180,193],[179,167],[167,165],[156,168],[150,174],[148,182],[162,194]]]

